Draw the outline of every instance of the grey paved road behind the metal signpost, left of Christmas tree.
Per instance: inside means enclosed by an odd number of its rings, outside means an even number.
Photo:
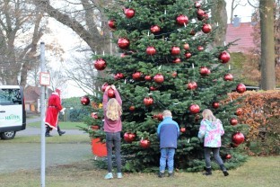
[[[38,121],[39,119],[37,119]],[[27,122],[34,121],[28,120]],[[36,121],[36,120],[35,120]],[[67,129],[66,134],[84,134],[82,130]],[[40,128],[28,127],[18,131],[15,135],[35,136],[40,135]],[[53,136],[58,136],[57,132],[52,132]],[[0,140],[0,174],[12,173],[17,170],[39,169],[41,165],[41,145],[40,143],[1,143]],[[11,140],[7,140],[11,141]],[[82,161],[92,157],[91,142],[88,144],[46,144],[46,167],[51,165],[65,165]]]

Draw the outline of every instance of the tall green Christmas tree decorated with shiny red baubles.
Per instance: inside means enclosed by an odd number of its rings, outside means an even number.
[[[233,78],[229,68],[232,43],[210,49],[214,31],[209,5],[192,0],[117,1],[107,10],[112,42],[118,54],[93,55],[93,65],[106,77],[100,94],[85,96],[92,118],[92,138],[105,141],[102,131],[102,91],[116,85],[123,101],[123,170],[158,171],[159,139],[156,134],[162,111],[170,110],[179,123],[180,136],[175,154],[175,168],[201,171],[205,166],[203,144],[197,138],[201,111],[208,108],[222,120],[225,135],[221,156],[228,168],[245,161],[241,154],[244,141],[239,101],[228,93],[244,93],[245,85]],[[114,97],[109,91],[109,97]],[[240,132],[241,131],[241,132]],[[243,134],[242,134],[243,133]],[[106,165],[106,164],[105,164]],[[217,168],[213,164],[213,168]]]

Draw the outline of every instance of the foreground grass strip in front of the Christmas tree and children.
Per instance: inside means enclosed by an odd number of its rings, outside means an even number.
[[[92,165],[92,160],[57,165],[46,170],[48,187],[276,187],[280,180],[280,156],[249,157],[249,161],[238,169],[222,172],[214,171],[212,176],[201,173],[176,173],[173,178],[158,178],[156,174],[124,174],[123,179],[104,180],[105,170]],[[0,174],[1,186],[40,186],[40,171],[18,171]]]

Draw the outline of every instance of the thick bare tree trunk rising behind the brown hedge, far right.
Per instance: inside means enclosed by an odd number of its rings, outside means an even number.
[[[274,38],[274,0],[259,1],[261,32],[261,89],[276,88],[275,38]]]

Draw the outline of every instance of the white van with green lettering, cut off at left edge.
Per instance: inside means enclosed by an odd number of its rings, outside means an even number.
[[[26,128],[23,88],[0,85],[0,138],[13,139],[16,131]]]

